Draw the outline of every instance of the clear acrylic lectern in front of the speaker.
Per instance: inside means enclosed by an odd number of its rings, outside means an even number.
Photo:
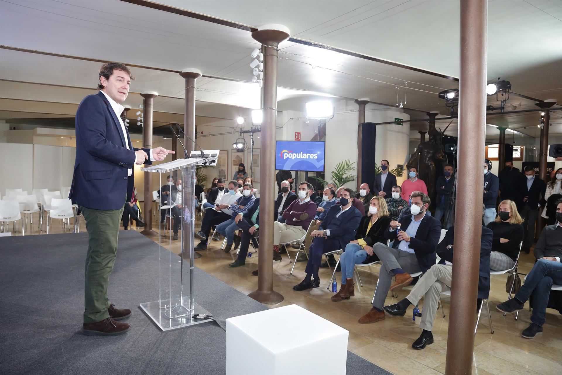
[[[208,154],[207,154],[208,155]],[[205,156],[207,156],[205,155]],[[211,154],[212,155],[212,154]],[[160,186],[166,181],[166,176],[172,171],[179,170],[182,179],[182,196],[178,192],[160,198],[166,204],[158,209],[165,210],[166,220],[170,218],[182,220],[180,259],[166,248],[162,243],[168,243],[171,249],[172,227],[167,236],[162,235],[162,228],[158,229],[158,300],[144,302],[140,308],[156,323],[162,331],[192,326],[193,324],[209,322],[211,319],[196,319],[194,315],[209,314],[200,305],[196,304],[193,296],[193,233],[195,220],[195,170],[197,165],[211,165],[216,162],[216,155],[211,157],[191,157],[178,159],[155,166],[146,166],[140,170],[158,173]],[[179,206],[181,205],[181,206]],[[159,225],[161,227],[161,225]],[[189,260],[189,266],[185,266]]]

